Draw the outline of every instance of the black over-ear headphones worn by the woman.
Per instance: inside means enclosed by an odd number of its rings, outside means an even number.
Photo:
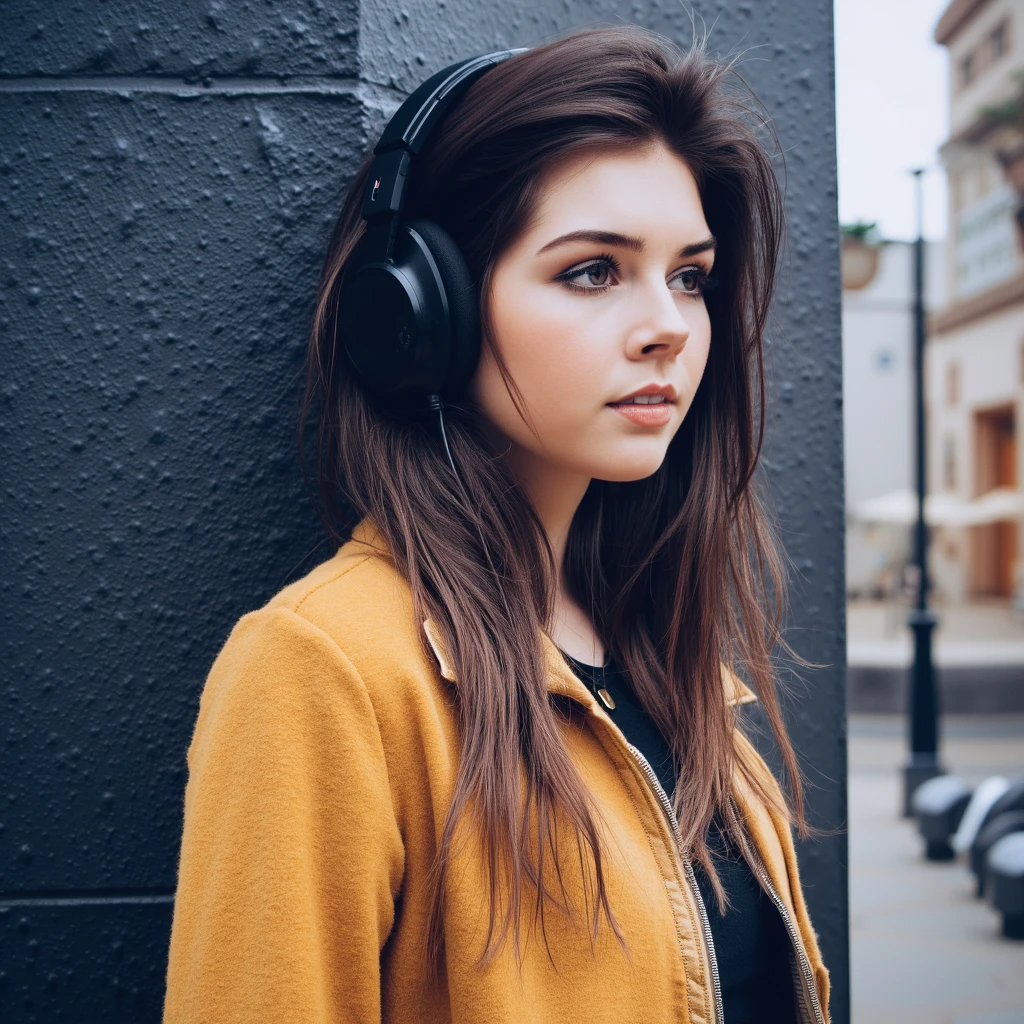
[[[466,260],[438,224],[402,221],[401,211],[413,157],[435,125],[484,72],[521,52],[499,50],[437,72],[374,147],[367,228],[345,268],[335,322],[349,365],[374,394],[422,395],[425,408],[439,411],[440,396],[459,394],[476,368],[479,310]]]

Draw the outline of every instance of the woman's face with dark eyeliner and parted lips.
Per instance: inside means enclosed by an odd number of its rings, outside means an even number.
[[[470,384],[520,472],[637,480],[660,466],[708,360],[701,286],[714,256],[693,175],[663,144],[549,173],[490,292],[495,341],[530,423],[486,345]],[[629,400],[638,392],[653,403]]]

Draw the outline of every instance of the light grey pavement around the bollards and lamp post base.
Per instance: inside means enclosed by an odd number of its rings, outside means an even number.
[[[849,752],[854,1024],[1022,1024],[1024,942],[1002,939],[968,868],[925,861],[899,817],[902,718],[851,717]],[[949,719],[942,756],[972,785],[1022,774],[1024,716]]]

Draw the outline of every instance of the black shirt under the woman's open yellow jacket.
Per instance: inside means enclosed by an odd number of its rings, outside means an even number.
[[[605,709],[608,716],[650,762],[662,788],[671,798],[676,787],[676,773],[669,744],[641,707],[618,666],[609,660],[602,669],[578,662],[564,651],[562,654],[595,695],[600,687],[611,695],[615,707]],[[753,1024],[755,1021],[758,1024],[795,1024],[791,945],[782,919],[746,860],[725,842],[717,819],[712,822],[707,841],[729,900],[726,912],[720,913],[707,873],[694,863],[693,872],[715,943],[725,1016],[723,1024]]]

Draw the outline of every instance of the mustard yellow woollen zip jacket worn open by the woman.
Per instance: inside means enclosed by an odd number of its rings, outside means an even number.
[[[626,950],[603,922],[592,948],[586,918],[549,912],[551,959],[535,935],[521,975],[511,943],[476,967],[487,891],[470,842],[449,873],[444,969],[427,983],[426,882],[459,760],[458,681],[366,519],[244,616],[210,672],[187,754],[165,1024],[720,1024],[707,915],[671,806],[542,642],[550,690],[584,712],[561,728],[606,826]],[[754,698],[735,677],[725,686],[730,701]],[[770,778],[738,732],[736,744]],[[802,1019],[821,1024],[827,974],[790,827],[736,792],[791,934]]]

